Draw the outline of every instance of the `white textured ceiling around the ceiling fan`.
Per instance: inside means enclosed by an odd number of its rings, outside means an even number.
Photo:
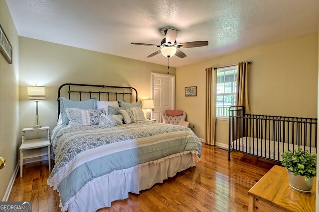
[[[6,0],[19,36],[167,65],[162,28],[178,30],[172,67],[318,31],[319,0]]]

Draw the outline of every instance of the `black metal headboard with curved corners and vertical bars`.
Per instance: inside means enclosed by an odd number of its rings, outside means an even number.
[[[130,101],[132,103],[132,91],[134,90],[135,93],[136,93],[136,102],[138,102],[138,91],[134,88],[134,87],[123,87],[123,86],[109,86],[109,85],[90,85],[90,84],[74,84],[74,83],[65,83],[65,84],[62,84],[60,87],[59,87],[59,90],[58,90],[58,98],[57,98],[57,101],[58,101],[58,116],[60,114],[60,96],[61,96],[61,89],[62,87],[64,86],[68,86],[68,95],[69,95],[69,99],[71,99],[71,93],[79,93],[79,96],[80,96],[80,101],[81,101],[81,94],[82,93],[88,93],[90,98],[91,98],[91,95],[92,94],[98,94],[98,100],[101,100],[101,94],[104,94],[107,96],[107,100],[109,101],[109,97],[110,97],[110,94],[115,94],[115,100],[117,101],[118,100],[118,96],[123,96],[123,100],[125,99],[125,96],[129,95],[130,96]],[[81,86],[81,87],[102,87],[102,88],[115,88],[115,89],[118,89],[119,91],[122,91],[122,92],[114,92],[114,91],[81,91],[81,90],[71,90],[71,86],[72,86],[72,89],[76,88],[76,86]],[[74,87],[75,86],[75,87]],[[105,90],[105,89],[104,89]]]

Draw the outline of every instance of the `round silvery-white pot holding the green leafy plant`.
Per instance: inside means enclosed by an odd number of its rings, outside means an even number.
[[[294,172],[288,171],[289,185],[291,188],[302,193],[311,193],[314,183],[314,177],[305,178],[305,176],[294,175]]]

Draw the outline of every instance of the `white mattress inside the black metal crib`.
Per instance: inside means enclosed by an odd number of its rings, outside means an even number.
[[[284,151],[293,150],[298,147],[298,144],[257,139],[252,137],[242,137],[232,142],[233,150],[238,150],[277,161],[281,161],[281,155]],[[301,145],[300,147],[304,149],[304,145]],[[316,152],[315,147],[306,146],[305,149],[310,152]]]

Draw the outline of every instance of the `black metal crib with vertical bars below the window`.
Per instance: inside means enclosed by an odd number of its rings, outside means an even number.
[[[228,136],[228,160],[238,151],[280,162],[286,150],[316,152],[317,119],[246,114],[244,106],[231,106]]]

